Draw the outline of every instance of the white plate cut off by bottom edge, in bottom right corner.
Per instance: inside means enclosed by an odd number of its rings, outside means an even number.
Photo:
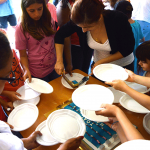
[[[149,140],[131,140],[119,145],[115,150],[149,150],[149,146]]]

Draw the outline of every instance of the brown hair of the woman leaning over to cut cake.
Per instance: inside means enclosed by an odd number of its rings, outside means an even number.
[[[104,7],[99,0],[77,0],[71,11],[71,19],[75,24],[97,22],[103,13]]]

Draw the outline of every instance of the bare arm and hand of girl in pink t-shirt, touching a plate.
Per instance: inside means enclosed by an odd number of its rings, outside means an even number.
[[[26,78],[29,78],[29,82],[31,82],[31,73],[29,71],[28,56],[26,50],[19,50],[19,53],[20,53],[20,62],[24,69],[23,78],[24,80],[26,80]]]

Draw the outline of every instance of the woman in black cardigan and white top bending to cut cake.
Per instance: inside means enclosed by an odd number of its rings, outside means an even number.
[[[85,71],[89,68],[94,49],[94,67],[114,63],[133,70],[134,36],[128,18],[118,12],[104,10],[99,0],[78,0],[71,10],[71,21],[62,26],[55,35],[57,59],[62,59],[65,37],[77,32],[83,46]],[[63,63],[55,65],[61,74]]]

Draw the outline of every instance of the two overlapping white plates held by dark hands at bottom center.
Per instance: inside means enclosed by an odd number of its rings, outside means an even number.
[[[79,114],[72,110],[61,109],[52,112],[47,120],[36,128],[36,131],[42,133],[36,141],[41,145],[51,146],[64,143],[71,138],[84,136],[86,126]]]

